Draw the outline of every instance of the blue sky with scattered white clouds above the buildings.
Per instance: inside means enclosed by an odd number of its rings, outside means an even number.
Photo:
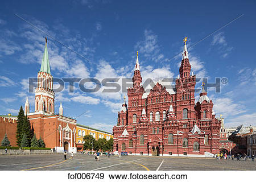
[[[215,113],[223,115],[226,126],[255,125],[255,8],[255,1],[1,2],[0,114],[17,114],[26,96],[34,111],[28,77],[37,76],[46,35],[15,16],[18,14],[89,59],[48,37],[53,77],[131,77],[137,50],[143,80],[176,77],[182,40],[188,36],[189,59],[197,77],[208,77],[209,82],[215,77],[228,78],[221,93],[208,90]],[[82,93],[75,84],[74,93],[67,87],[56,93],[55,111],[62,101],[64,115],[77,117],[85,112],[78,123],[111,131],[122,97],[121,92]]]

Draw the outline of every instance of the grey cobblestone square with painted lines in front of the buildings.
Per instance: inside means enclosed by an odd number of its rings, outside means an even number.
[[[74,159],[63,160],[63,154],[0,155],[0,170],[256,170],[256,162],[213,158],[177,158],[168,156],[101,156],[75,154]]]

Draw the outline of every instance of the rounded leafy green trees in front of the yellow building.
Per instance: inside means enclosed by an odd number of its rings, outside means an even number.
[[[94,150],[94,151],[112,151],[113,150],[113,138],[106,140],[105,138],[100,138],[96,140],[92,135],[85,135],[84,138],[84,150]]]

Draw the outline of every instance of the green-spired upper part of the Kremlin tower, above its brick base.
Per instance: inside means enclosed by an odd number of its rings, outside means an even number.
[[[41,68],[38,72],[38,87],[35,88],[35,112],[54,113],[53,77],[49,65],[47,38]]]

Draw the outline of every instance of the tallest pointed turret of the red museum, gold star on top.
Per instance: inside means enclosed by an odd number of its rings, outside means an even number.
[[[182,60],[181,60],[181,65],[180,65],[180,77],[181,78],[187,78],[190,76],[190,71],[191,71],[191,64],[189,63],[188,59],[188,50],[187,50],[187,41],[188,38],[184,38],[184,48],[182,52]]]

